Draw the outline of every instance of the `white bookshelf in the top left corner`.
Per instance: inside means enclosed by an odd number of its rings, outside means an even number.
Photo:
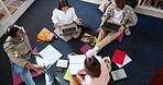
[[[34,0],[0,0],[0,37],[33,2]]]

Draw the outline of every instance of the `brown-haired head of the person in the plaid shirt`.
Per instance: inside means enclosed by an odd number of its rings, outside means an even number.
[[[113,9],[120,9],[123,10],[126,5],[126,0],[112,0],[111,7]]]

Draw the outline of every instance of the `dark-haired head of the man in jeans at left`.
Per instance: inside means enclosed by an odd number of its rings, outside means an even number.
[[[15,40],[21,40],[24,36],[24,31],[22,26],[18,26],[18,25],[10,25],[7,29],[6,29],[6,34],[10,37],[12,37]]]

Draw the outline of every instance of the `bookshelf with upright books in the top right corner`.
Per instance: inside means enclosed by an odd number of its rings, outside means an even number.
[[[137,13],[163,19],[163,0],[139,0]]]

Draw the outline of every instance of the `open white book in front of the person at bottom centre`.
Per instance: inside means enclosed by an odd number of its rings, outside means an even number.
[[[69,56],[70,74],[76,75],[78,70],[84,70],[85,54]]]

